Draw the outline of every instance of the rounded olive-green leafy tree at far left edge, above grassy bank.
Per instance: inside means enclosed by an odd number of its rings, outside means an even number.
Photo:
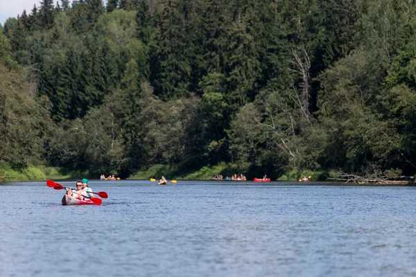
[[[0,64],[0,75],[0,161],[13,169],[40,164],[53,133],[47,103],[32,97],[21,73]]]

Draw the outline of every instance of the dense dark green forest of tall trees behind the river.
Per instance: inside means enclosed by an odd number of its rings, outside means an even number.
[[[414,175],[415,2],[43,0],[0,28],[0,165]]]

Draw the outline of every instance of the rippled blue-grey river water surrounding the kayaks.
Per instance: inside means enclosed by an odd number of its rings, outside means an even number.
[[[416,276],[416,187],[151,184],[0,183],[0,276]]]

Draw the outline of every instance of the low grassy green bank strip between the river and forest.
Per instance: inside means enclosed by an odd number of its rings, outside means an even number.
[[[115,172],[111,172],[115,174]],[[171,179],[178,180],[198,180],[204,181],[211,179],[212,175],[220,174],[223,176],[232,176],[234,174],[245,174],[248,181],[252,181],[254,177],[250,172],[241,172],[239,166],[232,163],[220,163],[213,167],[203,167],[199,170],[184,171],[174,166],[155,165],[148,170],[139,171],[125,178],[127,180],[146,180],[153,177],[166,175]],[[414,185],[415,178],[408,176],[399,176],[395,172],[384,172],[379,175],[348,175],[343,172],[324,172],[324,171],[296,171],[286,172],[281,176],[270,176],[273,181],[299,181],[303,176],[311,176],[311,181],[336,181],[340,184],[379,184],[379,185]],[[88,177],[89,179],[99,179],[98,176],[92,175],[88,170],[66,170],[64,168],[56,168],[50,166],[28,166],[24,170],[13,170],[6,163],[1,163],[0,182],[12,181],[44,181],[46,179],[80,179],[80,177]]]

